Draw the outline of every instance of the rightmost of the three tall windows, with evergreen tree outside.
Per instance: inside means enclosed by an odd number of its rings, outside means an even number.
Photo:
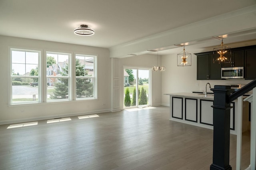
[[[76,55],[76,98],[95,98],[95,56]]]

